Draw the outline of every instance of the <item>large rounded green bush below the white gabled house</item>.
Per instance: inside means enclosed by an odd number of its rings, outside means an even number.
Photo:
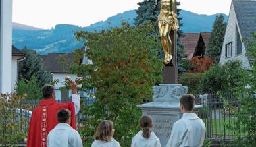
[[[204,73],[199,84],[201,92],[235,92],[247,85],[248,72],[240,61],[228,61],[224,65],[214,65]]]

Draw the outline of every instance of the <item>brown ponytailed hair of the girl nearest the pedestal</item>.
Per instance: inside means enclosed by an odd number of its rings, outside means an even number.
[[[143,129],[143,138],[147,139],[151,134],[152,119],[148,115],[140,118],[140,128]]]

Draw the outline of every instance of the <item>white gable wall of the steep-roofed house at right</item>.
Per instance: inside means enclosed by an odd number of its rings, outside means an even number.
[[[224,42],[222,45],[222,53],[220,55],[220,64],[224,64],[226,61],[234,61],[234,60],[240,60],[242,61],[243,67],[247,70],[251,70],[251,67],[249,65],[248,58],[246,56],[245,46],[242,44],[242,54],[236,55],[236,24],[238,28],[238,32],[241,36],[239,24],[236,18],[236,14],[234,11],[234,6],[231,4],[230,7],[230,14],[228,16],[228,23],[227,28],[224,36]],[[232,57],[225,57],[225,45],[232,42]]]

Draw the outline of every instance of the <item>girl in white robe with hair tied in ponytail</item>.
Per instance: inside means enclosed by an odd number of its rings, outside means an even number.
[[[132,138],[131,147],[161,147],[160,140],[152,130],[153,123],[151,117],[144,115],[140,119],[141,131]]]

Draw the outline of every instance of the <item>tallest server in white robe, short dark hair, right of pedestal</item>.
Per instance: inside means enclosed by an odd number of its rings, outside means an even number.
[[[195,96],[192,94],[185,94],[180,98],[180,111],[183,117],[174,123],[166,147],[203,146],[205,123],[193,113],[194,105]]]

